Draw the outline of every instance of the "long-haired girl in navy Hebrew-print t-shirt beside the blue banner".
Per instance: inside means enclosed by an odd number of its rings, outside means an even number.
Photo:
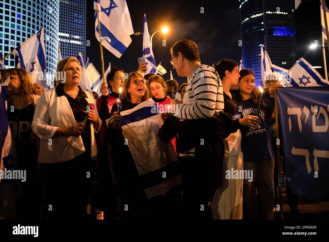
[[[250,69],[242,69],[239,74],[239,90],[236,97],[242,106],[241,118],[255,116],[260,102],[260,95],[255,90],[255,75]],[[275,118],[274,105],[263,97],[259,114],[260,123],[241,129],[243,169],[252,171],[251,179],[244,177],[243,181],[244,219],[274,219],[275,153],[268,130],[269,117]]]

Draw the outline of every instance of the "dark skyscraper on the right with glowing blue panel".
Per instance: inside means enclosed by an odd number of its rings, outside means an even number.
[[[296,62],[294,1],[240,0],[242,63],[262,85],[261,46],[274,65],[289,69]]]

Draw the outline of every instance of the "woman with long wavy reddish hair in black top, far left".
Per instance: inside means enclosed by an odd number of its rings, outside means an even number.
[[[31,122],[39,96],[26,70],[9,68],[4,71],[4,80],[9,79],[7,89],[7,114],[20,168],[26,171],[22,182],[24,193],[16,203],[16,219],[40,217],[40,196],[36,179],[37,138]]]

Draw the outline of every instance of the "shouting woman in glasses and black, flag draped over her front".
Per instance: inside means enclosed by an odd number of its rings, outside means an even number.
[[[146,81],[140,72],[132,72],[123,83],[121,92],[122,108],[120,112],[132,109],[139,103],[148,99],[149,93]],[[136,217],[144,213],[146,198],[140,176],[131,155],[130,149],[125,144],[122,134],[121,115],[118,115],[117,104],[112,107],[113,121],[105,132],[105,140],[112,146],[113,170],[119,186],[122,207],[128,205],[128,211],[123,209],[124,217]],[[144,210],[144,211],[143,211]]]

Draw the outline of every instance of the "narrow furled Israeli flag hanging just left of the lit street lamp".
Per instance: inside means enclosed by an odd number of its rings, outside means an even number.
[[[151,38],[148,33],[146,15],[144,13],[144,34],[143,34],[143,56],[145,57],[146,65],[147,65],[147,73],[155,73],[157,74],[157,64],[155,63],[153,50],[151,47]]]

